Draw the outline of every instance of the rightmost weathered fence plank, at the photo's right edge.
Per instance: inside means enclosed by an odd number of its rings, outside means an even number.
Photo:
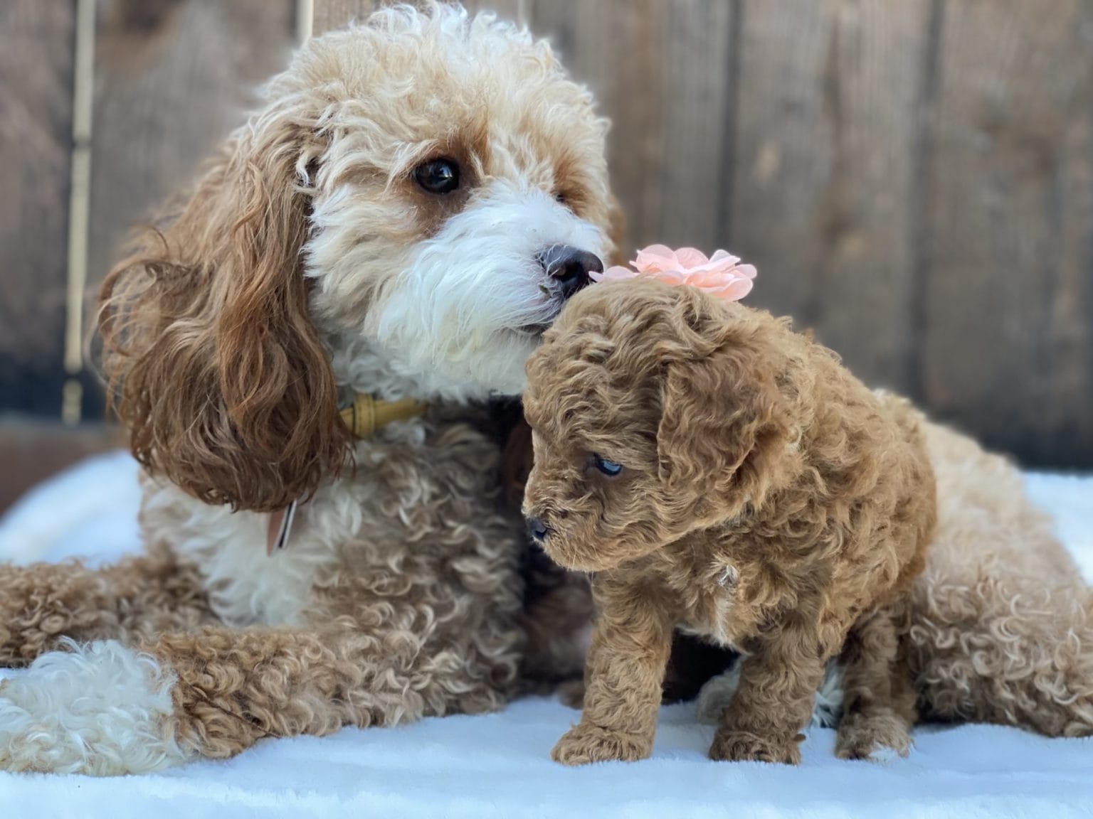
[[[1093,466],[1093,3],[943,3],[924,382],[1029,464]]]

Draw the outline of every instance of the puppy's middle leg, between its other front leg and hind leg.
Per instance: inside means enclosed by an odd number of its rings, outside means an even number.
[[[754,646],[740,687],[721,715],[710,759],[798,764],[801,729],[809,724],[827,652],[803,628],[786,627]]]

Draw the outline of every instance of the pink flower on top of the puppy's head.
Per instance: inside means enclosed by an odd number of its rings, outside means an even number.
[[[755,268],[741,264],[740,260],[724,250],[706,257],[694,248],[672,250],[663,245],[649,245],[638,250],[637,258],[630,268],[608,268],[602,273],[592,273],[596,282],[613,282],[623,278],[645,276],[659,278],[668,284],[686,284],[705,290],[712,296],[738,301],[752,288]]]

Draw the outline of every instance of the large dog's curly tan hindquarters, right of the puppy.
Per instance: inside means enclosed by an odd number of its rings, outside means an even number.
[[[924,719],[1093,735],[1093,598],[1006,460],[926,425],[938,532],[912,595]]]

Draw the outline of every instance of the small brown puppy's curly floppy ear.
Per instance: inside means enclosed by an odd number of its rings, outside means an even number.
[[[761,333],[710,314],[706,299],[694,294],[683,305],[678,353],[663,366],[660,479],[692,492],[739,491],[759,505],[790,427],[779,363]]]

